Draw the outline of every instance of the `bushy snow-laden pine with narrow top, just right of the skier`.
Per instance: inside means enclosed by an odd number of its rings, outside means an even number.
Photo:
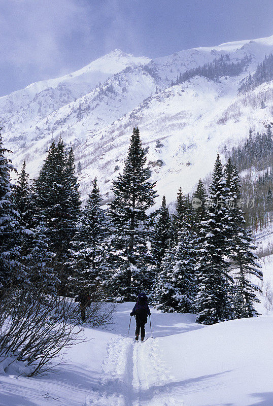
[[[161,262],[155,287],[156,308],[163,312],[192,313],[195,296],[195,234],[190,224],[191,208],[181,188],[175,215],[177,241]],[[182,210],[183,209],[183,210]]]

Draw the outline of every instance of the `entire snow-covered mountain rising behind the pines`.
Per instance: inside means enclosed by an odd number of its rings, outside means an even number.
[[[219,147],[246,137],[250,126],[262,131],[273,121],[272,82],[246,94],[237,90],[272,51],[273,36],[154,60],[115,50],[70,75],[1,97],[5,145],[14,151],[17,166],[26,159],[34,177],[52,139],[61,136],[81,161],[83,197],[97,176],[107,199],[132,127],[138,125],[159,199],[165,193],[173,201],[179,186],[189,192],[211,171]],[[243,72],[219,81],[194,76],[172,86],[180,74],[221,56],[228,63],[247,60]]]

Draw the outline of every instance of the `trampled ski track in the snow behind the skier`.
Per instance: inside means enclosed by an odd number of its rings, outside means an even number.
[[[96,398],[87,395],[84,406],[184,406],[168,393],[166,383],[173,377],[162,363],[157,339],[112,339],[102,369]]]

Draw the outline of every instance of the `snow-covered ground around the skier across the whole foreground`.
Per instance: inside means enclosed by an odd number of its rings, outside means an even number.
[[[133,304],[118,304],[107,330],[86,326],[91,340],[69,349],[57,374],[2,371],[1,406],[271,406],[272,313],[204,326],[152,310],[155,339],[147,324],[137,343],[133,318],[127,337]]]

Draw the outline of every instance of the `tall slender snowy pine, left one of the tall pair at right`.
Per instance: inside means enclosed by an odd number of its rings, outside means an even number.
[[[230,279],[225,257],[228,245],[225,198],[223,165],[217,154],[206,201],[207,220],[201,222],[198,239],[198,293],[195,303],[197,323],[214,324],[229,320],[232,316]]]

